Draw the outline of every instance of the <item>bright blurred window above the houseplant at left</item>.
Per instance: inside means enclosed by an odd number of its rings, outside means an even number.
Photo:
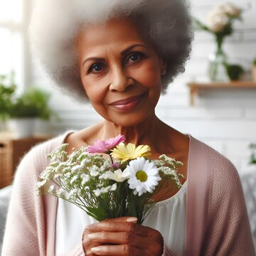
[[[0,0],[0,75],[13,70],[21,88],[28,83],[29,1]]]

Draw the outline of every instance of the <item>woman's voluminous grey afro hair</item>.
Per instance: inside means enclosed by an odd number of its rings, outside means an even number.
[[[75,36],[83,26],[122,17],[136,19],[166,60],[165,92],[176,75],[184,72],[191,52],[193,32],[186,0],[39,0],[28,28],[31,51],[63,92],[85,102]]]

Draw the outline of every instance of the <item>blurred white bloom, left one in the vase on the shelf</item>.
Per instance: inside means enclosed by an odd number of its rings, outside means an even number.
[[[210,13],[206,21],[206,25],[214,33],[223,31],[228,24],[228,17],[225,14]]]

